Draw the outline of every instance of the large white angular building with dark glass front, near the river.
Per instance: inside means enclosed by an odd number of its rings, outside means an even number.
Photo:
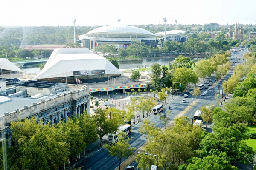
[[[35,76],[38,81],[82,84],[105,82],[122,75],[108,59],[88,48],[55,49],[44,68]]]

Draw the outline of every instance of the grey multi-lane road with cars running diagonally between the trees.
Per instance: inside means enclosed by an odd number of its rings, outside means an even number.
[[[247,51],[237,52],[235,54],[232,54],[232,56],[230,58],[233,58],[233,61],[235,60],[235,61],[239,62],[238,59],[236,60],[236,57],[237,57],[237,58],[241,59],[241,62],[245,62],[245,60],[242,60],[242,56],[246,52]],[[232,60],[230,59],[230,61],[232,61]],[[237,64],[237,63],[235,63],[235,64]],[[222,78],[217,83],[221,85],[222,82],[227,80],[232,74],[233,74],[233,71],[230,71],[224,78]],[[214,80],[215,76],[207,77],[204,80],[209,82],[209,79]],[[203,83],[204,80],[198,84]],[[216,83],[212,82],[212,86],[209,86],[208,89],[201,90],[201,93],[204,91],[207,91],[208,92],[207,95],[206,96],[198,96],[197,97],[198,102],[184,116],[192,117],[196,110],[200,110],[200,108],[202,106],[208,105],[208,102],[216,105],[215,93],[219,93],[220,89],[222,90],[222,86],[220,88],[218,88],[215,86],[215,84]],[[204,84],[204,85],[208,86],[208,83]],[[164,112],[169,111],[169,106],[171,106],[171,115],[169,116],[169,118],[170,118],[169,120],[172,120],[175,116],[177,116],[178,113],[182,112],[186,107],[188,107],[192,101],[195,101],[195,98],[192,95],[190,95],[189,93],[185,93],[185,94],[188,94],[188,97],[186,98],[187,102],[182,103],[182,100],[184,99],[183,94],[181,94],[179,96],[173,96],[174,100],[172,100],[172,102],[169,102],[167,105],[164,106],[164,110],[163,110]],[[162,128],[164,126],[161,123],[158,115],[152,114],[152,115],[148,116],[148,119],[150,120],[150,122],[155,123],[156,127]],[[129,135],[129,136],[133,137],[133,139],[130,141],[131,147],[136,147],[137,149],[139,147],[141,147],[146,142],[145,137],[143,135],[141,135],[140,133],[137,133],[137,130],[139,129],[139,127],[141,125],[142,125],[142,122],[133,126],[132,133],[130,133],[130,135]],[[210,130],[210,129],[207,129],[207,130]],[[125,159],[122,159],[122,161],[124,161],[124,160]],[[108,151],[105,150],[104,148],[101,148],[96,153],[93,153],[87,159],[84,159],[80,164],[78,164],[78,166],[82,165],[83,170],[87,170],[87,169],[90,169],[90,170],[105,170],[105,169],[114,170],[116,167],[118,167],[118,164],[119,164],[119,160],[116,159],[116,157],[108,155]],[[137,163],[133,162],[131,165],[136,167]]]

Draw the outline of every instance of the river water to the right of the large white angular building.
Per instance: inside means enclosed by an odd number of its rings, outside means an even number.
[[[191,58],[192,60],[197,58]],[[202,59],[198,57],[198,59]],[[172,63],[175,58],[167,58],[167,59],[143,59],[143,60],[136,60],[136,61],[119,61],[119,69],[131,69],[131,68],[138,68],[142,67],[150,67],[153,63],[158,63],[160,65],[168,65],[168,62]]]

